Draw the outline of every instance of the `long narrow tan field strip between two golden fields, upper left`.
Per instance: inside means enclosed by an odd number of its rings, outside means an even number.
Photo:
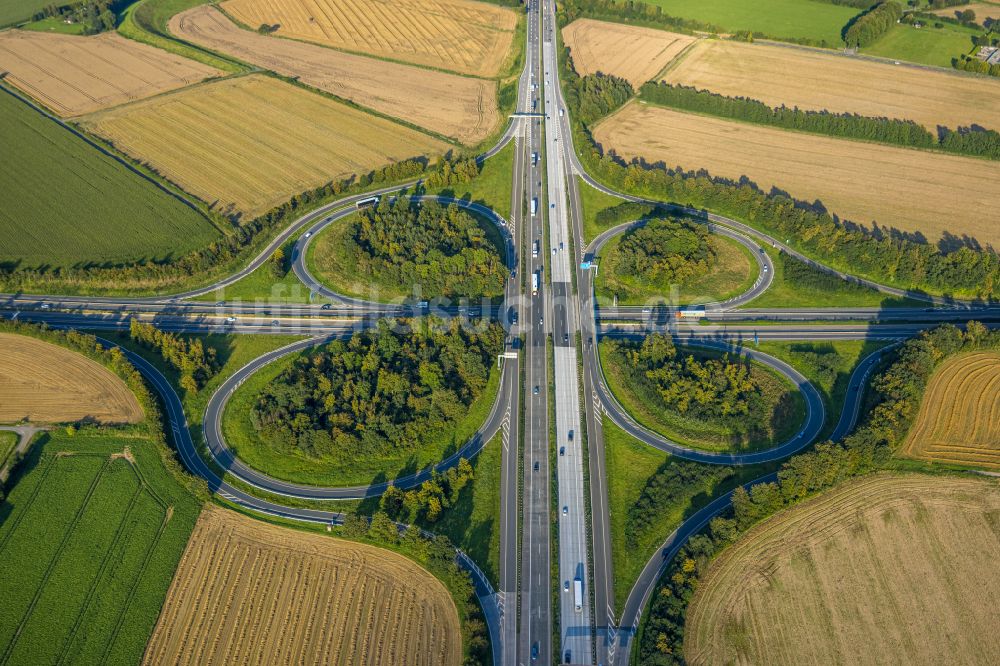
[[[466,144],[485,139],[500,122],[494,81],[265,37],[211,5],[174,16],[170,32]]]

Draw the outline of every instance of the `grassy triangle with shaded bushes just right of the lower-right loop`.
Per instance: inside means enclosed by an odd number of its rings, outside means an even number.
[[[828,437],[844,409],[844,400],[851,390],[854,368],[866,356],[885,347],[888,342],[863,340],[832,340],[824,342],[771,342],[756,348],[788,362],[812,382],[823,398],[826,420],[819,440]]]

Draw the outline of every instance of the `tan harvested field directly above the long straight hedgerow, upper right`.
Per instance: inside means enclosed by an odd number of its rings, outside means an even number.
[[[789,46],[702,40],[664,80],[771,106],[913,120],[935,133],[973,123],[1000,130],[1000,81]]]

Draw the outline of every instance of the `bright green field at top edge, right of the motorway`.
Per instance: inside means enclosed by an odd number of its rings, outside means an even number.
[[[841,46],[840,31],[860,10],[813,0],[647,0],[664,14],[723,30],[753,30],[770,37],[825,41]]]

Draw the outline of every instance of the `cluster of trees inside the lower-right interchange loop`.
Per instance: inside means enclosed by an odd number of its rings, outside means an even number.
[[[651,386],[664,408],[678,414],[734,425],[766,418],[761,391],[749,363],[726,354],[701,360],[681,354],[669,335],[654,333],[642,342],[611,341],[638,381]]]

